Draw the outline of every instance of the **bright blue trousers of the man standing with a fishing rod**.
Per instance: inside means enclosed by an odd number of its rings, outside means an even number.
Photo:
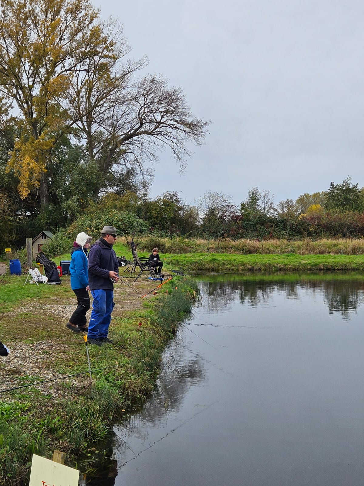
[[[91,290],[94,298],[92,312],[88,324],[87,337],[102,339],[107,337],[111,322],[111,312],[114,309],[114,292],[112,290]]]

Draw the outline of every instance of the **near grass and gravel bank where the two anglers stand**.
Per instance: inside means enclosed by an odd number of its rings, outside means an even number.
[[[75,307],[69,277],[59,286],[23,287],[24,280],[0,282],[0,336],[11,350],[0,361],[0,390],[37,383],[0,394],[0,484],[6,486],[28,484],[33,453],[51,457],[60,449],[69,465],[87,469],[88,461],[78,464],[77,457],[86,452],[92,462],[95,441],[151,392],[162,352],[198,291],[193,280],[175,278],[141,305],[140,295],[155,282],[117,285],[109,334],[115,344],[89,347],[92,380],[88,374],[55,380],[88,369],[83,336],[65,327]],[[45,380],[53,381],[39,384]]]

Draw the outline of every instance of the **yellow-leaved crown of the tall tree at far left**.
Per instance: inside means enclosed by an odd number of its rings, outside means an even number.
[[[39,187],[50,150],[75,122],[63,103],[69,73],[104,42],[98,17],[90,0],[0,0],[0,115],[16,101],[20,136],[7,171],[19,178],[22,199]]]

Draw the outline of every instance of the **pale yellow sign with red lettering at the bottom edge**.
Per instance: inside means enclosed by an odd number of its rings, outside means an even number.
[[[80,471],[33,454],[29,486],[78,486]]]

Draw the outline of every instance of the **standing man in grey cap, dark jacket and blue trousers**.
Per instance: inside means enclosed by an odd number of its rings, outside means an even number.
[[[116,228],[104,226],[101,238],[91,246],[88,255],[88,285],[94,300],[87,342],[97,346],[112,343],[107,334],[114,309],[114,282],[118,280],[119,269],[113,250],[115,240]]]

